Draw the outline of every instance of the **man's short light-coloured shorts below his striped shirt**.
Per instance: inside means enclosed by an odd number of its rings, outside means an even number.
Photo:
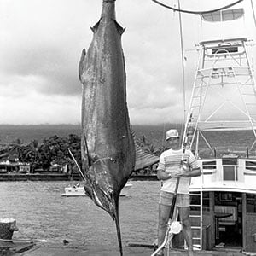
[[[159,203],[166,206],[172,205],[173,193],[166,191],[160,191],[160,201]],[[177,194],[176,206],[177,207],[189,207],[189,195],[186,194]]]

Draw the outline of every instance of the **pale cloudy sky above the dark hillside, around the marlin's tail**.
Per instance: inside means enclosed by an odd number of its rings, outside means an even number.
[[[190,10],[233,2],[180,0],[182,9]],[[177,7],[177,0],[162,3]],[[183,121],[183,100],[187,106],[199,55],[196,45],[213,38],[255,40],[250,4],[244,0],[235,7],[245,8],[244,18],[223,24],[182,15],[184,95],[178,13],[151,0],[116,0],[117,21],[126,28],[122,47],[131,125]],[[102,0],[0,0],[0,124],[80,124],[78,65],[101,11]],[[250,48],[255,56],[255,46]]]

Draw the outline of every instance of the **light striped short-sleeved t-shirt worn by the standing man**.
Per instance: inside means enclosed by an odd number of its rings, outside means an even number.
[[[180,163],[182,160],[183,150],[166,150],[160,155],[159,165],[157,167],[158,171],[164,171],[168,173],[175,173],[179,170]],[[190,150],[186,150],[183,160],[187,160],[187,163],[191,168],[199,168],[199,163],[195,159],[194,154]],[[179,179],[179,185],[177,189],[178,194],[189,194],[189,177],[181,177]],[[161,191],[173,193],[176,187],[177,178],[171,177],[163,181],[163,186]]]

